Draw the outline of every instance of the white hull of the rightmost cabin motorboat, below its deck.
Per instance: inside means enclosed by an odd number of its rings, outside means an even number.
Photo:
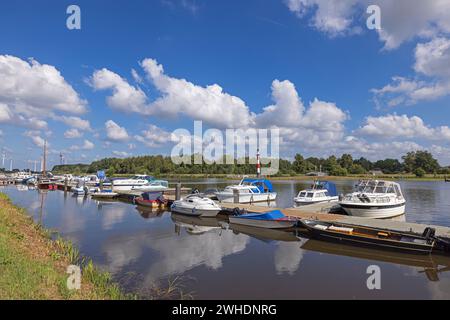
[[[405,203],[386,206],[340,203],[340,206],[348,215],[362,218],[386,219],[405,214]]]

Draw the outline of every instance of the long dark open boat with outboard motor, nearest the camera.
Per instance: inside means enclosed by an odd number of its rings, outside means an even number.
[[[409,253],[429,254],[433,250],[448,250],[448,242],[435,236],[435,229],[425,228],[422,235],[350,224],[300,219],[312,238],[371,246]]]

